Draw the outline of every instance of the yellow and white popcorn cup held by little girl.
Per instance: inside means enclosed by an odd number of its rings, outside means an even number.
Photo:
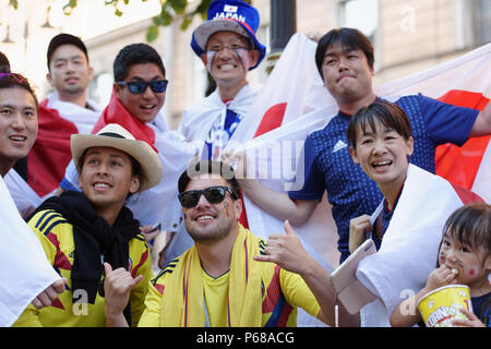
[[[452,320],[466,320],[459,309],[472,311],[470,289],[466,285],[448,285],[424,294],[418,303],[427,327],[453,327]]]

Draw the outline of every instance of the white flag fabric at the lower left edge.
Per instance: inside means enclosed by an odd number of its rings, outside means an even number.
[[[8,327],[60,276],[20,216],[1,176],[0,197],[0,326]]]

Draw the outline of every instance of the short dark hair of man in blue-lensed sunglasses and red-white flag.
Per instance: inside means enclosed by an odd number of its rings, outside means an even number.
[[[124,81],[128,77],[130,68],[135,64],[154,63],[160,69],[166,76],[166,69],[161,61],[160,55],[147,44],[131,44],[124,46],[115,59],[112,71],[115,82]]]

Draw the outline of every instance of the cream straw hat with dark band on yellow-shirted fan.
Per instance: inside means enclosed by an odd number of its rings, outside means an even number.
[[[160,182],[163,168],[157,153],[143,141],[137,141],[123,127],[109,123],[97,134],[72,134],[72,158],[76,166],[85,149],[95,146],[107,146],[128,153],[142,167],[143,176],[139,192],[151,189]],[[80,169],[79,169],[80,170]]]

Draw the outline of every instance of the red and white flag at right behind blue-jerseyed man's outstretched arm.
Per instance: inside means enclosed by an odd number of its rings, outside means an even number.
[[[421,93],[428,97],[483,110],[491,98],[491,44],[462,57],[375,87],[380,96]],[[491,202],[490,136],[472,137],[458,147],[436,148],[436,174]]]

